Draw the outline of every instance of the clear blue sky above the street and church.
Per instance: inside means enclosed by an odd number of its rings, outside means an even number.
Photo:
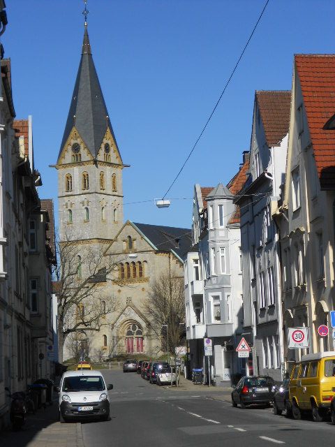
[[[291,88],[293,55],[334,53],[334,0],[89,0],[94,63],[124,163],[124,220],[191,228],[195,184],[227,184],[249,149],[255,90]],[[6,0],[1,36],[17,119],[32,116],[40,198],[57,209],[57,162],[80,62],[82,0]],[[57,226],[58,217],[56,217]]]

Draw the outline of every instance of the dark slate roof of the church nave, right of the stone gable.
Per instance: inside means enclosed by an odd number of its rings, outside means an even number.
[[[174,251],[183,259],[192,246],[192,230],[189,228],[176,228],[172,226],[150,225],[149,223],[136,223],[133,225],[161,251]]]

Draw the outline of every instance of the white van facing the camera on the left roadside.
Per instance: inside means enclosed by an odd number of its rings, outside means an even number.
[[[100,371],[66,371],[59,385],[59,420],[61,423],[76,418],[110,416],[108,390]]]

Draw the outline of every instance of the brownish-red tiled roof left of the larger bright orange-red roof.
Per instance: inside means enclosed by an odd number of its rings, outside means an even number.
[[[265,129],[267,145],[277,146],[288,133],[291,92],[287,90],[258,90],[256,101]]]

